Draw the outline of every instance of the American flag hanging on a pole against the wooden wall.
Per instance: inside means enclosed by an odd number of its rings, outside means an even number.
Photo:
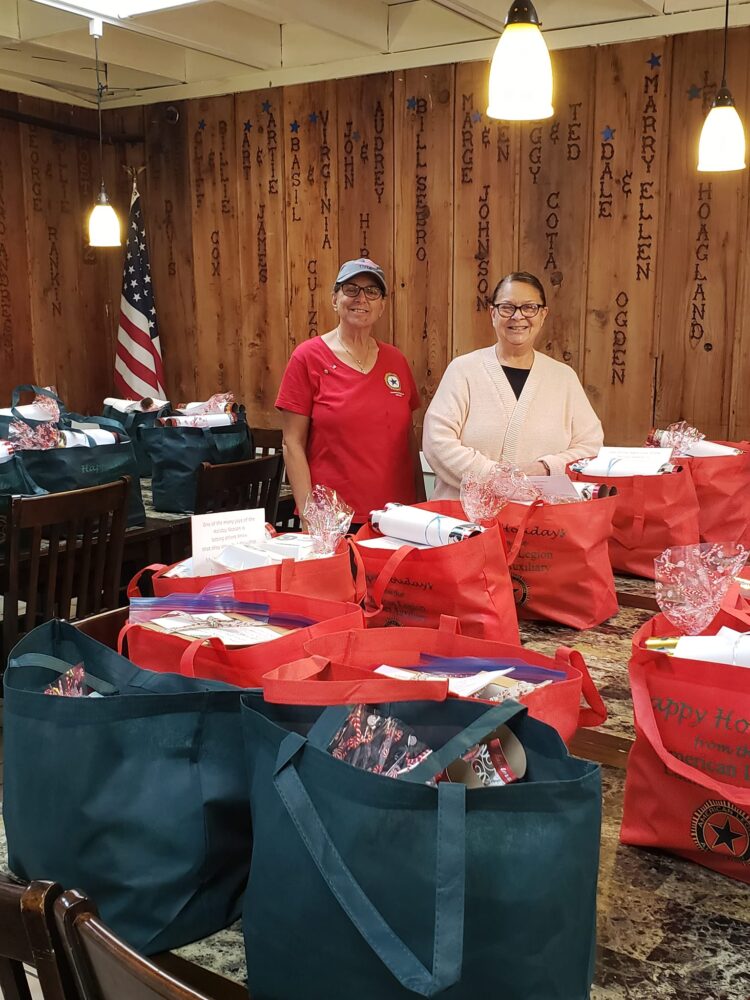
[[[120,323],[115,356],[115,391],[123,399],[166,399],[151,265],[141,196],[133,184],[128,217],[128,245],[122,275]]]

